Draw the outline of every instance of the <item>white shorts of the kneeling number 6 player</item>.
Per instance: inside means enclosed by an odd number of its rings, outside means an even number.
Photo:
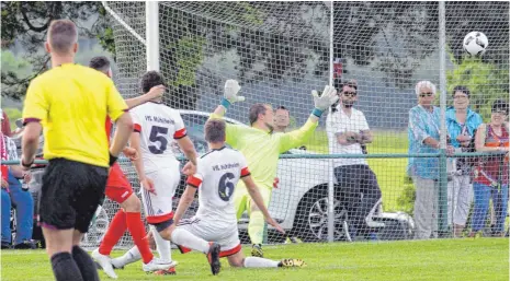
[[[209,223],[202,221],[199,218],[183,219],[179,222],[177,227],[183,229],[193,235],[203,238],[207,242],[216,242],[220,246],[219,257],[228,257],[241,250],[241,242],[239,241],[239,232],[237,223],[233,225],[218,225],[217,223]],[[182,254],[191,249],[178,246]]]

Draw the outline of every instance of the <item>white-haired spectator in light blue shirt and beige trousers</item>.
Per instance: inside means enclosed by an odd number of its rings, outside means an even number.
[[[418,105],[409,110],[409,154],[438,153],[440,149],[440,108],[433,105],[435,85],[420,81],[415,87]],[[453,148],[449,147],[449,153]],[[438,236],[439,159],[410,157],[408,174],[416,187],[415,238]]]

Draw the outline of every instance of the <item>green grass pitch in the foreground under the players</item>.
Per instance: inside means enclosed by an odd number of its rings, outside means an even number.
[[[268,258],[298,257],[308,266],[233,269],[223,259],[223,271],[213,277],[204,255],[173,250],[173,259],[179,261],[178,276],[146,274],[139,261],[117,270],[117,274],[118,280],[509,280],[508,238],[294,244],[264,249]],[[43,250],[2,250],[1,258],[1,280],[53,280]],[[100,277],[107,280],[103,272]]]

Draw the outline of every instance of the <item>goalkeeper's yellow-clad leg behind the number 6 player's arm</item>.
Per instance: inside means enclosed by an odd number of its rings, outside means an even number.
[[[264,206],[268,207],[271,200],[271,192],[272,189],[265,188],[259,185],[259,191],[264,200]],[[262,251],[262,241],[264,236],[264,215],[259,210],[257,204],[250,198],[247,206],[250,215],[250,222],[248,224],[248,234],[251,239],[251,255],[254,257],[263,257],[264,254]]]

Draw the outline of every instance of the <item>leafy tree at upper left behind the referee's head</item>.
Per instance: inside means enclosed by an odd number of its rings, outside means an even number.
[[[2,68],[2,96],[20,99],[30,81],[47,69],[49,56],[43,51],[43,44],[52,20],[69,19],[77,24],[80,36],[91,38],[104,34],[106,21],[100,14],[102,9],[101,2],[88,1],[2,1],[2,50],[14,45],[21,46],[26,62],[32,66],[29,74]]]

